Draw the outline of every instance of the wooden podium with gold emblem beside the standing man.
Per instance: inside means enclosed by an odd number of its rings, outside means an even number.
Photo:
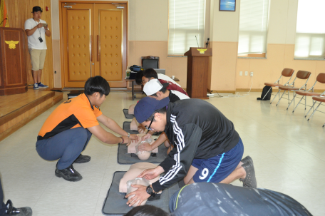
[[[27,91],[25,31],[0,28],[0,96]]]

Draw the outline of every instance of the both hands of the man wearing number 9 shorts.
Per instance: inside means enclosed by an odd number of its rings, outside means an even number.
[[[157,166],[157,168],[155,168],[155,169],[144,170],[142,173],[140,173],[140,175],[138,175],[138,178],[145,178],[146,180],[152,180],[152,179],[158,177],[158,175],[160,175],[163,172],[164,172],[164,169],[162,169],[162,167],[160,167],[160,166]],[[150,195],[147,192],[146,186],[143,186],[143,185],[131,185],[131,186],[138,187],[138,189],[133,192],[130,192],[128,195],[125,196],[126,198],[128,198],[132,195],[135,195],[130,200],[128,200],[128,202],[126,202],[126,205],[132,206],[136,202],[140,201],[138,203],[138,206],[139,206],[139,205],[141,205],[141,203],[144,200],[147,200],[150,197]],[[153,190],[153,192],[155,192],[155,191]]]

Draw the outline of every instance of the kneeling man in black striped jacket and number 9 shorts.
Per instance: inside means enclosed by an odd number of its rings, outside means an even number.
[[[145,170],[140,178],[160,177],[153,185],[139,187],[129,195],[147,199],[150,194],[184,179],[193,182],[230,183],[241,178],[246,187],[257,187],[252,160],[241,162],[244,146],[233,123],[212,104],[200,99],[169,103],[143,98],[135,106],[135,118],[147,128],[165,131],[175,145],[155,169]],[[129,196],[128,195],[128,196]],[[128,204],[137,200],[130,200]]]

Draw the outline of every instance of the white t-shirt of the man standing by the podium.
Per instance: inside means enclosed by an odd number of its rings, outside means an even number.
[[[31,30],[33,29],[33,27],[37,26],[38,24],[46,24],[46,21],[43,20],[39,20],[39,22],[36,22],[35,20],[33,20],[33,18],[31,19],[27,19],[25,21],[25,30]],[[41,43],[39,41],[39,37],[41,36],[41,38],[43,39],[43,42]],[[28,36],[29,39],[29,48],[33,48],[33,49],[47,49],[46,46],[46,35],[45,35],[45,29],[44,27],[41,27],[39,29],[36,29],[36,31],[31,35]]]

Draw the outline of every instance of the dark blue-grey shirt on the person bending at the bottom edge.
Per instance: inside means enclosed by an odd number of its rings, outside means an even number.
[[[185,185],[170,199],[172,215],[309,216],[299,202],[281,192],[200,182]]]

